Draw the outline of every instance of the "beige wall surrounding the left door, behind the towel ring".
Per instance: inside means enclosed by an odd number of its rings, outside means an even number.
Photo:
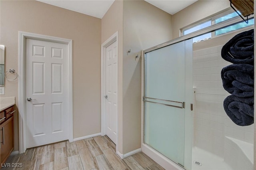
[[[18,31],[73,40],[74,138],[99,133],[101,20],[37,1],[1,0],[0,15],[6,69],[18,72]],[[16,97],[18,106],[17,81],[5,83],[5,95],[1,97],[10,96]],[[17,113],[14,129],[14,150],[18,150]]]

